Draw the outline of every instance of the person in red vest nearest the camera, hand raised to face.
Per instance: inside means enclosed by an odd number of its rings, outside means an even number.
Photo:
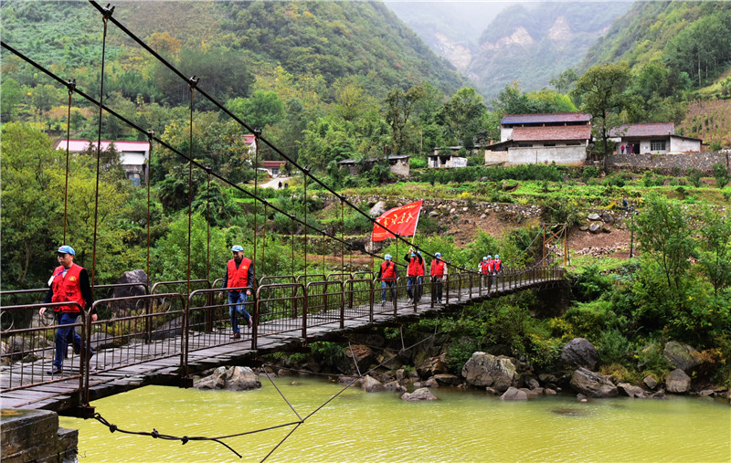
[[[56,251],[58,264],[51,278],[48,280],[48,293],[46,300],[48,302],[76,302],[77,305],[61,305],[54,306],[58,321],[58,330],[56,330],[56,354],[53,359],[53,366],[48,374],[60,374],[63,369],[63,358],[69,345],[69,341],[73,344],[74,353],[81,352],[81,336],[74,330],[72,325],[79,319],[79,315],[83,310],[88,310],[94,304],[94,295],[91,292],[89,284],[89,273],[86,268],[74,264],[76,251],[73,247],[62,246]],[[38,310],[38,314],[42,317],[46,311],[45,307]],[[96,312],[91,314],[91,320],[97,321]],[[94,352],[89,349],[89,355]]]

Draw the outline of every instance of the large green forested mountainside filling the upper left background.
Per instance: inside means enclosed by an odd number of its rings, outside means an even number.
[[[4,2],[2,15],[3,40],[30,58],[75,68],[68,77],[79,83],[98,72],[90,65],[101,58],[101,16],[87,2]],[[381,95],[425,82],[452,93],[464,83],[378,2],[126,2],[113,16],[154,49],[178,58],[183,72],[210,80],[236,72],[242,81],[232,82],[235,94],[229,96],[248,96],[251,76],[273,75],[278,64],[293,75],[322,76],[326,85],[367,77]],[[108,58],[119,59],[122,85],[164,100],[156,91],[162,76],[145,68],[146,52],[109,29]],[[185,57],[176,56],[181,50]],[[136,74],[122,77],[125,72]]]

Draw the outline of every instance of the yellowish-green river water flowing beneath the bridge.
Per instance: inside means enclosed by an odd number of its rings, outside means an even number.
[[[278,378],[305,417],[342,389],[312,378]],[[295,384],[292,384],[295,382]],[[294,426],[216,442],[110,433],[97,420],[62,416],[79,429],[79,462],[168,461],[731,461],[731,407],[671,396],[579,403],[573,396],[503,402],[481,391],[440,388],[440,400],[406,402],[395,393],[349,388]],[[297,421],[269,380],[257,391],[147,386],[94,402],[120,429],[178,437],[219,437]]]

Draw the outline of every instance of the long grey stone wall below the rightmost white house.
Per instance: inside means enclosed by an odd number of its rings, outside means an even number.
[[[690,168],[698,169],[706,174],[713,173],[715,163],[729,166],[729,155],[718,153],[694,154],[612,154],[607,159],[607,167],[616,170],[659,169],[672,173],[678,168],[686,172]]]

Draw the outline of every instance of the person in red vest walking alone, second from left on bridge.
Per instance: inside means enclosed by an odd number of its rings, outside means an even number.
[[[233,258],[228,261],[226,274],[223,277],[223,288],[228,288],[228,314],[231,316],[230,339],[241,339],[241,331],[238,330],[238,315],[242,315],[249,328],[254,325],[251,315],[244,307],[244,303],[251,295],[251,288],[254,286],[254,263],[250,258],[244,257],[244,248],[238,245],[231,247]],[[223,293],[219,294],[223,298]],[[238,313],[237,313],[238,312]]]

